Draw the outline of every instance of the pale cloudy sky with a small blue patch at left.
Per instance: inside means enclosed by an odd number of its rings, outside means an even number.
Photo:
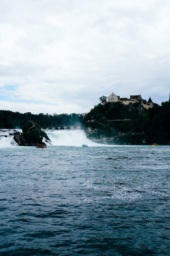
[[[169,0],[1,0],[0,109],[87,113],[170,92]]]

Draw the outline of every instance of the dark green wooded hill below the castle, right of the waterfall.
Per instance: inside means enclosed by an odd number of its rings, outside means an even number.
[[[83,125],[86,127],[88,138],[101,142],[102,138],[111,144],[116,142],[169,145],[170,102],[162,102],[161,106],[154,104],[154,107],[148,110],[142,108],[141,115],[138,114],[138,103],[100,103],[85,115]]]

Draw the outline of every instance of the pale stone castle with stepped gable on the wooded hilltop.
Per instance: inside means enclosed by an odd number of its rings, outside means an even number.
[[[151,97],[149,98],[148,101],[146,100],[143,100],[141,95],[131,95],[130,96],[130,99],[128,98],[120,98],[120,96],[117,96],[115,95],[114,93],[112,93],[111,95],[109,95],[107,97],[107,101],[108,102],[117,102],[117,101],[120,101],[122,102],[123,104],[125,105],[128,105],[129,103],[136,103],[136,102],[141,102],[141,105],[146,108],[146,109],[149,109],[149,108],[153,108],[153,102],[151,100]]]

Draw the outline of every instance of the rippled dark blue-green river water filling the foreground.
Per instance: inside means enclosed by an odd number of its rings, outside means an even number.
[[[0,149],[0,255],[169,255],[169,146]]]

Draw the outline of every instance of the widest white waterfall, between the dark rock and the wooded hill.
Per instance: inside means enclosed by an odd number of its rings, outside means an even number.
[[[88,146],[100,146],[87,139],[83,130],[45,130],[45,132],[54,146],[82,146],[83,143]]]

